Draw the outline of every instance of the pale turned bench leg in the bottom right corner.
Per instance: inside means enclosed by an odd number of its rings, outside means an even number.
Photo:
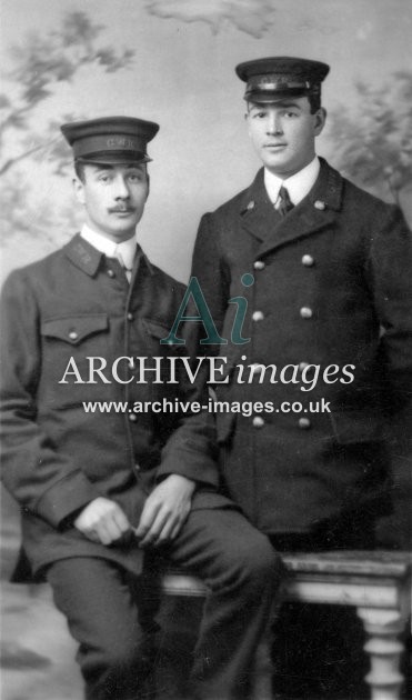
[[[371,687],[372,700],[399,700],[403,676],[399,670],[404,647],[398,636],[405,620],[399,610],[358,608],[368,641],[364,650],[371,661],[365,681]]]

